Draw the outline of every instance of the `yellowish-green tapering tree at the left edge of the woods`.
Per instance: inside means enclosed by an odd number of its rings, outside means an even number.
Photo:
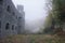
[[[54,29],[54,18],[52,13],[50,12],[44,23],[43,33],[53,33],[53,29]]]

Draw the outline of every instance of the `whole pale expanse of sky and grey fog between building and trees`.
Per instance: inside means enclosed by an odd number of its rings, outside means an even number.
[[[12,0],[15,6],[24,5],[25,29],[31,32],[40,31],[47,16],[46,0]]]

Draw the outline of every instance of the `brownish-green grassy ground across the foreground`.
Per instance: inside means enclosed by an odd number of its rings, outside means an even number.
[[[0,43],[65,43],[65,38],[50,34],[20,34],[0,40]]]

